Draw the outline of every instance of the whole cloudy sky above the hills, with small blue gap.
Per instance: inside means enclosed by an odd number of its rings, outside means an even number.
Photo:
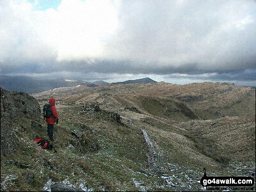
[[[0,75],[256,86],[256,0],[0,0]]]

